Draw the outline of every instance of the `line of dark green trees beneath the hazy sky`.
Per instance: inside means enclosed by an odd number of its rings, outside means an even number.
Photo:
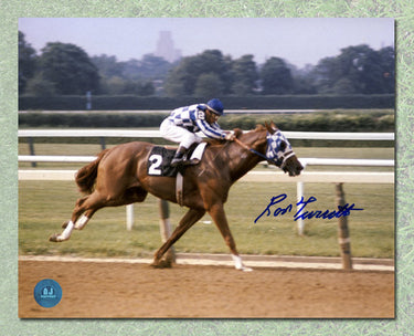
[[[147,54],[120,62],[116,56],[89,56],[82,48],[50,42],[38,54],[19,32],[19,94],[248,96],[287,94],[393,94],[394,49],[348,46],[316,65],[298,69],[272,56],[256,64],[251,54],[233,60],[205,50],[169,63]]]

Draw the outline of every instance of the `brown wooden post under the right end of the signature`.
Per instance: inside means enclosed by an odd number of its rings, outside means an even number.
[[[337,206],[343,208],[346,204],[343,183],[336,183]],[[348,217],[341,216],[338,219],[338,241],[341,249],[342,269],[352,270],[351,240],[348,230]]]

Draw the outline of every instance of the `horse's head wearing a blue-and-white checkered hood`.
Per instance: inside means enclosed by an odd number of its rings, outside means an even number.
[[[304,169],[296,157],[288,139],[272,122],[270,125],[265,123],[267,128],[267,149],[266,158],[268,162],[279,167],[283,171],[289,172],[289,176],[300,175]]]

